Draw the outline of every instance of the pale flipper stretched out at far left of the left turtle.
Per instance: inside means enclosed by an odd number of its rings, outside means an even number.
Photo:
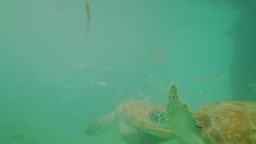
[[[101,116],[92,121],[86,128],[85,134],[88,136],[98,136],[104,134],[110,127],[114,127],[116,118],[115,112]]]

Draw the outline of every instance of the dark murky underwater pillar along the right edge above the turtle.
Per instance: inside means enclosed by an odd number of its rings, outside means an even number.
[[[250,2],[238,8],[241,12],[230,29],[234,43],[230,66],[234,100],[256,101],[256,1]]]

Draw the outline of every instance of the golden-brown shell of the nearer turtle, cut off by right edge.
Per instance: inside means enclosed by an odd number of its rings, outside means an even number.
[[[217,143],[256,143],[256,103],[217,102],[201,106],[194,115]]]

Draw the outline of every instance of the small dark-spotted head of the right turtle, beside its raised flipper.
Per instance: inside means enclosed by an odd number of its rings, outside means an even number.
[[[165,111],[150,111],[149,118],[154,124],[159,125],[164,129],[169,129],[166,124]]]

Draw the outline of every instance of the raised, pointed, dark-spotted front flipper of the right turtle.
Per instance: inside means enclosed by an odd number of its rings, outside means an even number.
[[[201,125],[189,105],[179,97],[177,85],[173,82],[167,95],[166,118],[168,127],[180,139],[193,144],[205,143],[201,136]]]

